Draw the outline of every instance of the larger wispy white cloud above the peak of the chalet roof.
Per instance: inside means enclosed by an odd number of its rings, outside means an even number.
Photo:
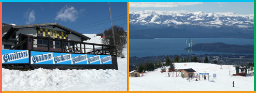
[[[74,22],[78,18],[78,11],[73,6],[63,7],[56,15],[55,20]]]

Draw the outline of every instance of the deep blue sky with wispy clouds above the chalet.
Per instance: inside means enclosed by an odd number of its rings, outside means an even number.
[[[127,4],[110,3],[113,25],[127,30]],[[17,25],[57,22],[82,34],[111,27],[108,3],[3,3],[3,23]]]

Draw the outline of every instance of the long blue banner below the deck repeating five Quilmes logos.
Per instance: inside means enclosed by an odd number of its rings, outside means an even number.
[[[69,54],[31,51],[31,64],[101,65],[112,64],[110,55]]]

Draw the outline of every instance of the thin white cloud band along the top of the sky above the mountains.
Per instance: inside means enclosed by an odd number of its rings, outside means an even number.
[[[130,2],[130,7],[178,7],[203,4],[203,2]]]

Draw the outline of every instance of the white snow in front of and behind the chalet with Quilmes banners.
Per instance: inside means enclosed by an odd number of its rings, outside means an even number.
[[[101,44],[100,37],[87,34],[87,42]],[[124,54],[127,51],[124,49]],[[2,68],[2,88],[9,90],[127,90],[127,55],[117,58],[119,70],[47,70],[31,71]]]

